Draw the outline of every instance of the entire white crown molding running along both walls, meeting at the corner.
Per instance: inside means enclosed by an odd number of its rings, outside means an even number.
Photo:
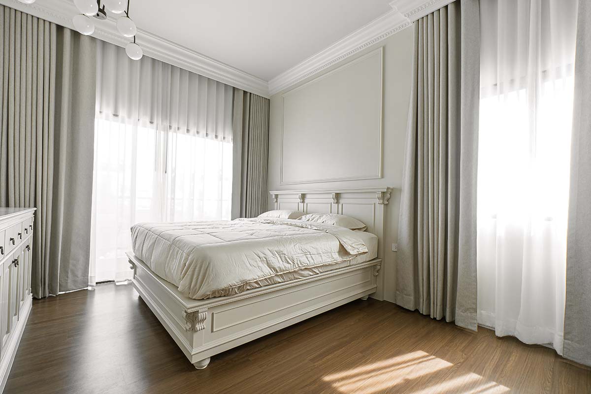
[[[391,11],[274,77],[268,83],[148,31],[138,29],[137,38],[146,56],[263,97],[269,97],[385,40],[392,34],[410,27],[412,22],[418,18],[422,18],[452,1],[393,0],[389,3]],[[73,28],[72,17],[78,13],[73,2],[68,0],[40,0],[34,4],[23,4],[18,0],[0,0],[0,4],[67,28]],[[126,38],[118,34],[115,19],[110,15],[106,21],[97,21],[93,37],[121,47],[128,43]]]

